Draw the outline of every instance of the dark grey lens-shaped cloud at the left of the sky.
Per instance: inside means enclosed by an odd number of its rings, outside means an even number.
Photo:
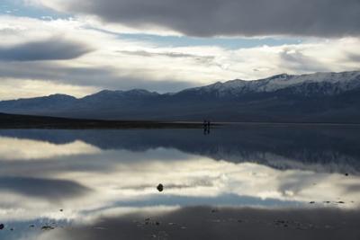
[[[76,41],[50,38],[0,47],[0,60],[39,61],[74,59],[92,51],[85,44]]]

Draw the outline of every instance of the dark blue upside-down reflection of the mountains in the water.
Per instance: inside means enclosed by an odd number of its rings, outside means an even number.
[[[110,151],[175,149],[237,164],[251,162],[280,170],[360,175],[357,127],[239,124],[235,128],[211,129],[206,136],[202,129],[0,129],[0,138],[42,141],[59,147],[80,141]]]

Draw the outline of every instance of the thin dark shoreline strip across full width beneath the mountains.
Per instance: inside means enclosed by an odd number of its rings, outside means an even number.
[[[211,122],[216,127],[350,127],[360,123],[337,122]],[[203,129],[202,121],[90,120],[0,113],[0,129]]]

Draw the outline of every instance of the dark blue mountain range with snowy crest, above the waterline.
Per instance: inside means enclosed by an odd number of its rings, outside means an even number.
[[[101,120],[360,123],[360,71],[237,79],[178,93],[54,94],[3,101],[0,112]]]

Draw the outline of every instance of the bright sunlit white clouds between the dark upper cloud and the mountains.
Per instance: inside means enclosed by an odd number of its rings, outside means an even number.
[[[51,63],[0,61],[0,68],[4,69],[1,73],[3,79],[19,79],[19,84],[3,80],[1,99],[49,93],[83,96],[102,89],[147,88],[173,92],[181,87],[232,79],[254,80],[281,73],[308,74],[359,69],[358,38],[312,38],[293,45],[243,49],[191,45],[175,47],[146,38],[122,38],[116,32],[103,31],[106,30],[102,28],[103,23],[87,16],[44,21],[0,15],[0,22],[3,40],[0,47],[61,36],[61,39],[80,42],[94,49],[79,58]],[[36,81],[29,82],[29,79]],[[163,84],[165,82],[168,83],[166,86]]]

